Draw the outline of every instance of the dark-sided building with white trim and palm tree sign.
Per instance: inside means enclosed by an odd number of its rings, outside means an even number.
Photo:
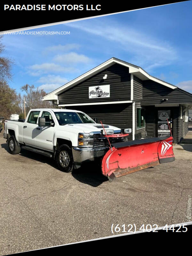
[[[103,124],[132,128],[129,140],[169,135],[179,143],[188,132],[192,94],[111,58],[44,97]]]

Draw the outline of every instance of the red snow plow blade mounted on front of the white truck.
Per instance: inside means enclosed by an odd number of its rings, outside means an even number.
[[[172,137],[113,143],[102,160],[102,173],[109,181],[157,164],[173,162]]]

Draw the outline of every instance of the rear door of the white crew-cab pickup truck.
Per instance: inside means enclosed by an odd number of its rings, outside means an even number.
[[[37,119],[40,111],[31,111],[28,120],[23,124],[23,141],[26,145],[36,147]]]

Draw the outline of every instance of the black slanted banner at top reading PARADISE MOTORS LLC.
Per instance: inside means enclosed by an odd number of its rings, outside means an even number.
[[[185,2],[185,1],[178,1]],[[177,1],[142,1],[114,3],[102,1],[87,2],[37,2],[37,1],[8,1],[0,4],[0,17],[2,31],[28,28],[55,22],[83,19],[87,17],[126,12],[130,10],[148,8],[158,5],[177,3]]]

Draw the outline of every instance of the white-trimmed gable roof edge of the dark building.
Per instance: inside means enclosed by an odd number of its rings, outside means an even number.
[[[45,95],[43,97],[43,100],[58,100],[57,95],[60,94],[61,92],[66,91],[67,89],[75,86],[76,84],[83,82],[84,80],[90,78],[91,76],[99,73],[100,71],[102,71],[116,63],[129,68],[129,73],[133,74],[134,76],[139,77],[141,80],[153,80],[153,81],[155,81],[159,84],[163,84],[164,86],[167,86],[173,90],[177,88],[177,86],[174,86],[173,84],[169,84],[169,83],[164,82],[154,76],[149,75],[143,68],[140,68],[140,67],[135,66],[131,63],[128,63],[124,60],[119,60],[119,59],[113,57],[113,58],[101,63],[99,66],[92,68],[91,70],[87,71],[83,75],[78,76],[77,78],[71,80],[67,84],[62,85],[58,89],[48,93],[47,95]]]

